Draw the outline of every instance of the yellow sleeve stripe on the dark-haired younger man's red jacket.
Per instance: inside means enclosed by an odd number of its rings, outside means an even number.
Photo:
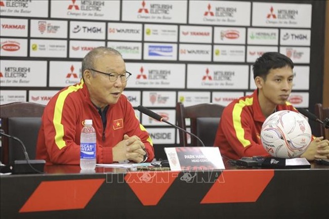
[[[253,104],[253,98],[246,98],[245,100],[240,100],[239,103],[236,103],[233,107],[232,117],[233,117],[233,126],[235,129],[235,135],[239,142],[246,147],[250,145],[250,141],[244,139],[244,129],[241,124],[241,113],[242,109],[245,106],[251,106]]]

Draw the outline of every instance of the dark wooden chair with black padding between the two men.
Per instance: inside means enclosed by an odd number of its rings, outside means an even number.
[[[185,107],[182,103],[176,104],[177,125],[186,130],[186,119],[190,119],[191,133],[201,139],[205,146],[213,146],[220,117],[225,106],[204,103]],[[187,134],[179,131],[180,147],[202,146],[194,137],[187,143]]]

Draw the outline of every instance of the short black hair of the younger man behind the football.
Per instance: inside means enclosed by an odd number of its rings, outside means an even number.
[[[278,52],[264,53],[253,65],[254,79],[260,76],[266,80],[266,76],[270,69],[283,68],[285,66],[294,69],[294,63],[289,57]]]

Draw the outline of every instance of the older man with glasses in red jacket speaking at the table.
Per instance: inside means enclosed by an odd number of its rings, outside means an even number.
[[[96,129],[97,163],[154,158],[153,143],[122,95],[131,73],[121,54],[98,47],[82,62],[83,79],[65,87],[48,103],[39,130],[36,159],[47,164],[79,164],[85,119]]]

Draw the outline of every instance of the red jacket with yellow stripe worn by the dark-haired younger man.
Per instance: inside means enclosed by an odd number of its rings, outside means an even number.
[[[289,102],[277,105],[276,111],[298,112]],[[270,156],[264,149],[260,133],[265,116],[258,102],[257,90],[250,96],[241,97],[230,103],[223,111],[214,146],[221,155],[230,159],[241,157]]]

